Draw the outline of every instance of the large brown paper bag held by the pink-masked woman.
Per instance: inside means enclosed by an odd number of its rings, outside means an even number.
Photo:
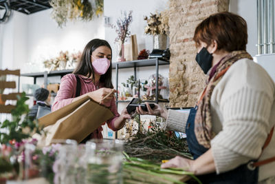
[[[80,143],[112,116],[111,110],[89,96],[79,99],[39,119],[39,125],[47,132],[39,139],[39,145],[50,145],[53,139],[74,139]]]

